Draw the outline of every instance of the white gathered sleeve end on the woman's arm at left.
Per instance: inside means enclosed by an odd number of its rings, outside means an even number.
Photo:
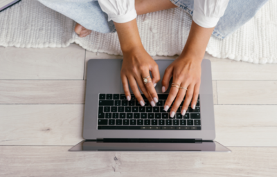
[[[109,21],[125,23],[136,18],[134,0],[98,0],[101,9],[109,16]]]

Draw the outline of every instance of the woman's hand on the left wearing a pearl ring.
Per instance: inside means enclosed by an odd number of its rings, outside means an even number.
[[[150,71],[152,73],[152,82],[144,84],[143,78],[150,76]],[[123,64],[120,76],[127,100],[131,99],[131,93],[129,91],[130,85],[136,100],[139,101],[141,106],[144,106],[145,102],[141,96],[139,88],[141,88],[141,91],[149,100],[150,104],[155,106],[159,99],[154,88],[160,80],[159,66],[145,51],[143,46],[132,48],[132,50],[123,52]],[[148,77],[148,81],[151,81],[151,77]],[[137,85],[139,85],[139,88]]]

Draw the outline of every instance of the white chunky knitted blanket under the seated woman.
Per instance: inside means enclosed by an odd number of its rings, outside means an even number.
[[[277,1],[270,0],[247,24],[226,39],[211,37],[206,51],[219,58],[255,64],[277,63]],[[137,18],[143,46],[150,55],[179,55],[190,30],[191,17],[181,8]],[[121,55],[116,33],[92,32],[80,38],[75,22],[35,0],[23,0],[0,12],[0,46],[66,47],[75,42],[100,53]]]

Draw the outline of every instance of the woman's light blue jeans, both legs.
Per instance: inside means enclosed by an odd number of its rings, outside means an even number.
[[[113,21],[102,12],[96,0],[38,0],[48,8],[76,21],[89,30],[107,33],[115,32]],[[193,15],[194,0],[170,0],[176,6]],[[198,0],[197,0],[198,1]],[[220,18],[213,35],[220,39],[231,35],[249,21],[268,0],[230,0],[224,16]]]

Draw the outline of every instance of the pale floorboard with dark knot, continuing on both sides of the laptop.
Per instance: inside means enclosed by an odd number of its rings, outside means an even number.
[[[82,104],[1,104],[0,145],[75,145]],[[216,140],[229,147],[277,147],[277,106],[216,105]]]

